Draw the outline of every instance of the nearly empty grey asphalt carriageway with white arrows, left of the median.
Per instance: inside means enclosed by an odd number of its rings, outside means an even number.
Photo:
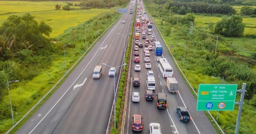
[[[102,66],[99,80],[92,78],[96,65],[122,64],[125,50],[124,37],[129,34],[131,14],[123,14],[120,20],[91,48],[86,57],[70,73],[51,97],[17,130],[17,134],[104,134],[113,105],[113,77],[109,67]],[[125,41],[128,36],[125,37]],[[68,53],[68,51],[67,51]],[[116,70],[116,82],[120,68]],[[79,86],[74,88],[78,84]]]

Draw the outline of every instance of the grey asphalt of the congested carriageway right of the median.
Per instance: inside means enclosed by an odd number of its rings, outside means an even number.
[[[143,12],[145,12],[144,6],[143,10]],[[149,18],[150,21],[152,20],[152,18],[148,14],[144,14],[144,17]],[[162,44],[162,57],[166,58],[174,69],[174,77],[179,83],[178,93],[168,93],[166,81],[161,75],[158,68],[158,64],[156,61],[157,56],[154,54],[154,49],[150,52],[151,69],[146,69],[144,64],[145,55],[143,53],[143,48],[140,48],[140,65],[142,68],[141,71],[134,71],[134,50],[132,50],[131,70],[128,77],[130,80],[128,83],[128,100],[126,101],[127,111],[125,112],[125,125],[123,126],[122,133],[137,133],[132,131],[131,117],[133,114],[141,114],[143,116],[143,131],[141,132],[141,134],[149,133],[148,126],[150,123],[160,123],[163,134],[217,134],[204,112],[196,111],[197,100],[195,99],[195,97],[193,97],[191,91],[186,86],[186,83],[184,82],[182,76],[179,74],[178,68],[176,68],[175,63],[172,61],[172,58],[168,54],[168,48],[166,48],[166,46],[164,45],[164,42],[160,37],[160,34],[158,33],[157,28],[154,24],[153,31],[157,41],[160,41],[160,43]],[[145,39],[142,39],[141,36],[142,34],[140,34],[140,42],[144,44]],[[149,39],[150,37],[151,35],[147,34],[147,38]],[[145,90],[147,89],[146,78],[147,71],[149,70],[154,71],[154,77],[157,84],[156,91],[154,92],[155,99],[153,101],[145,100]],[[133,87],[132,78],[134,77],[140,78],[140,87]],[[134,91],[140,92],[141,94],[139,103],[134,103],[131,100],[131,93]],[[167,95],[168,105],[166,109],[157,109],[157,100],[155,95],[158,92],[164,92]],[[192,121],[180,122],[176,114],[177,106],[186,106],[189,109]]]

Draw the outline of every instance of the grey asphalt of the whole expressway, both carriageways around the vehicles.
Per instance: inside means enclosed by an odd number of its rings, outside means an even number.
[[[131,3],[131,6],[132,3]],[[144,8],[145,10],[145,8]],[[29,120],[17,130],[16,134],[105,134],[108,131],[108,123],[113,106],[113,77],[108,76],[110,67],[102,66],[103,74],[99,80],[92,78],[93,69],[96,65],[106,63],[109,66],[122,65],[125,50],[124,42],[130,33],[132,15],[127,13],[104,34],[86,57],[72,71],[69,76],[49,97],[44,104],[29,118]],[[149,20],[150,16],[145,14]],[[121,23],[125,20],[126,23]],[[154,34],[157,41],[164,44],[156,27],[153,24]],[[120,34],[122,35],[120,35]],[[125,37],[125,41],[123,40]],[[148,37],[149,38],[149,37]],[[144,43],[145,39],[140,39]],[[174,69],[174,77],[179,82],[179,92],[169,94],[165,79],[159,75],[156,56],[150,52],[151,69],[145,69],[143,48],[140,48],[141,71],[134,71],[134,50],[131,52],[131,64],[128,71],[128,100],[126,101],[125,122],[122,133],[133,134],[131,130],[131,116],[133,114],[143,115],[142,134],[148,134],[149,123],[160,123],[163,134],[216,134],[210,121],[203,111],[196,111],[196,100],[186,86],[182,76],[169,56],[167,48],[163,46],[163,57],[167,58]],[[117,68],[116,84],[121,68]],[[154,71],[157,92],[167,94],[166,109],[157,109],[156,100],[146,101],[144,92],[146,87],[146,72]],[[132,78],[141,79],[140,87],[134,88]],[[131,92],[139,91],[141,98],[139,103],[131,102]],[[192,121],[183,123],[178,120],[175,108],[185,105],[189,108]]]

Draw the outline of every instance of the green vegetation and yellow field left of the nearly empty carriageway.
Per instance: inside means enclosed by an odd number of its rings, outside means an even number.
[[[104,9],[81,9],[75,6],[80,3],[73,3],[75,10],[71,11],[56,10],[57,4],[67,4],[60,1],[37,2],[36,8],[31,7],[35,2],[5,1],[9,4],[0,12],[0,134],[12,127],[7,80],[19,80],[10,85],[17,123],[64,76],[63,45],[71,43],[65,46],[69,70],[98,38],[98,28],[100,36],[118,19],[120,14],[116,14],[116,8],[128,3],[120,1],[122,5]],[[56,88],[58,86],[52,91]]]

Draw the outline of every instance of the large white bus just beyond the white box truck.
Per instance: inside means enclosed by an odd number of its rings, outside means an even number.
[[[173,77],[173,69],[166,58],[160,58],[158,62],[159,70],[164,78]]]

